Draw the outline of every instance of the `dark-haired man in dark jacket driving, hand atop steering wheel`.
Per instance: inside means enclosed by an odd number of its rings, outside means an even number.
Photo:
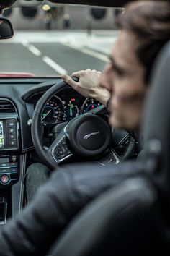
[[[103,74],[87,70],[73,74],[79,77],[79,82],[66,76],[63,79],[82,94],[87,91],[86,96],[96,95],[105,104],[110,91],[109,123],[117,128],[139,130],[153,61],[170,39],[170,4],[135,1],[128,5],[117,24],[122,32]],[[0,255],[45,255],[64,227],[88,202],[144,171],[142,161],[117,166],[89,163],[58,168],[22,214],[1,229]]]

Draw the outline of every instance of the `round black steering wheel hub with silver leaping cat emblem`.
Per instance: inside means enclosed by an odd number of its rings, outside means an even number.
[[[101,155],[111,141],[111,127],[94,114],[77,116],[68,123],[65,132],[73,152],[86,157]]]

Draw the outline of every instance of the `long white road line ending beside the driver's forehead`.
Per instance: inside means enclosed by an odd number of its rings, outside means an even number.
[[[75,50],[77,50],[77,51],[81,51],[81,52],[84,53],[84,54],[88,54],[88,55],[90,55],[90,56],[92,56],[92,57],[94,57],[94,58],[100,59],[100,60],[102,60],[102,61],[104,61],[104,62],[108,62],[108,61],[109,61],[109,58],[108,58],[106,55],[100,54],[100,53],[98,53],[97,51],[93,51],[93,50],[88,49],[88,48],[79,48],[79,47],[76,47],[76,46],[71,45],[71,44],[68,43],[68,42],[67,42],[67,43],[66,43],[66,42],[62,42],[62,44],[63,44],[64,46],[73,48],[73,49],[75,49]]]

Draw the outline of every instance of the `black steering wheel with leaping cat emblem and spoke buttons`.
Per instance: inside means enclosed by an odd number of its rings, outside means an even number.
[[[47,90],[37,101],[35,111],[32,117],[32,141],[35,150],[41,160],[51,169],[57,167],[59,163],[64,163],[73,155],[79,155],[86,159],[103,158],[103,162],[120,162],[120,157],[111,148],[112,130],[108,124],[107,116],[101,114],[106,112],[107,108],[99,107],[86,114],[76,116],[71,121],[66,122],[66,126],[61,130],[58,137],[55,138],[49,148],[42,144],[43,125],[41,121],[42,111],[46,103],[58,94],[63,88],[68,88],[66,82],[59,82]],[[131,137],[130,137],[131,138]],[[131,138],[132,139],[132,138]],[[135,143],[132,140],[128,144],[125,152],[125,158],[132,153]]]

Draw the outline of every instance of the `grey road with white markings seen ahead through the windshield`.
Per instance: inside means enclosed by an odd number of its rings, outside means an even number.
[[[56,76],[80,69],[102,71],[115,38],[117,32],[19,32],[0,41],[0,72]]]

